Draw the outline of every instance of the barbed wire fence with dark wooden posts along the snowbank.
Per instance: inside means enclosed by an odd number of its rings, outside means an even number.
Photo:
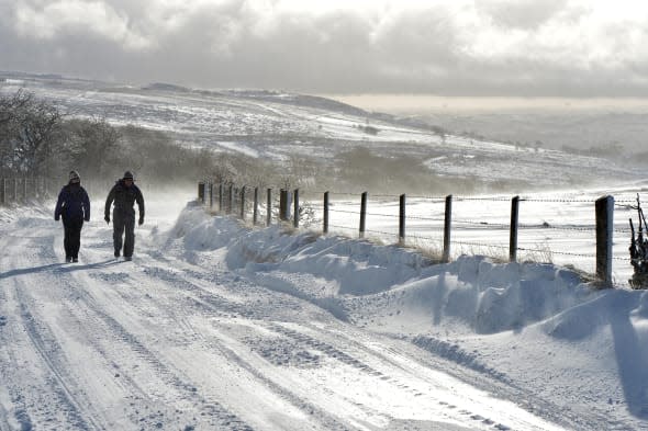
[[[534,199],[534,197],[521,197],[514,196],[513,199],[506,199],[502,196],[410,196],[405,194],[401,195],[387,195],[387,194],[377,194],[372,195],[372,199],[393,199],[394,212],[370,212],[367,211],[368,202],[367,202],[367,192],[359,192],[359,193],[350,193],[350,192],[334,192],[334,191],[325,191],[319,192],[321,193],[322,197],[317,199],[314,192],[309,191],[300,191],[299,189],[294,189],[292,191],[286,189],[279,189],[278,196],[275,194],[273,199],[270,199],[272,195],[272,190],[277,190],[273,188],[268,188],[268,202],[262,203],[259,200],[259,190],[258,188],[254,189],[254,204],[246,203],[246,201],[250,200],[253,193],[245,193],[245,188],[236,188],[236,185],[232,182],[223,183],[227,184],[230,191],[238,190],[237,193],[230,193],[230,204],[226,208],[223,208],[222,205],[219,205],[219,211],[224,212],[225,214],[237,214],[239,218],[246,219],[246,214],[254,208],[254,214],[257,214],[253,217],[253,224],[257,224],[258,214],[265,213],[266,215],[266,225],[270,225],[272,220],[278,220],[278,223],[291,223],[294,227],[305,226],[312,227],[314,224],[322,223],[322,231],[327,234],[331,228],[345,230],[345,231],[356,231],[359,238],[365,237],[366,234],[373,234],[380,235],[384,237],[392,237],[394,241],[399,245],[412,245],[412,240],[417,241],[427,241],[437,245],[440,250],[443,251],[443,261],[449,261],[450,258],[450,250],[453,247],[480,247],[485,249],[498,249],[502,251],[509,251],[509,260],[511,262],[515,262],[518,260],[517,251],[524,251],[526,253],[539,253],[546,256],[565,256],[565,257],[578,257],[584,259],[592,259],[595,261],[595,269],[596,269],[596,276],[611,285],[612,283],[612,261],[627,261],[628,259],[623,259],[619,257],[614,257],[612,254],[612,236],[614,232],[626,234],[629,230],[624,229],[621,227],[615,227],[613,224],[613,211],[614,208],[624,211],[624,209],[632,209],[632,205],[619,205],[619,203],[630,203],[633,201],[629,200],[619,200],[616,201],[612,196],[604,196],[599,200],[583,200],[583,199]],[[199,183],[199,199],[205,203],[210,209],[214,209],[214,202],[215,197],[209,197],[206,193],[213,193],[214,190],[223,190],[223,184],[214,184],[210,181],[203,181]],[[248,186],[247,190],[249,191],[250,188]],[[243,193],[241,192],[243,191]],[[262,191],[261,191],[262,192]],[[222,200],[222,193],[220,192],[219,200]],[[301,200],[300,200],[301,193]],[[235,200],[234,196],[238,197],[238,201]],[[336,204],[332,204],[329,202],[329,197],[332,195],[338,196],[354,196],[353,203],[344,202]],[[304,199],[304,196],[309,196],[309,199]],[[418,200],[427,200],[433,205],[444,205],[445,207],[439,207],[438,211],[432,211],[431,216],[425,216],[421,214],[406,214],[405,208],[407,207],[407,199],[410,200],[410,206],[421,205],[423,204]],[[345,200],[348,201],[348,200]],[[357,201],[357,202],[356,202]],[[412,202],[414,201],[414,202]],[[220,201],[219,201],[220,202]],[[484,220],[470,220],[463,218],[453,219],[453,202],[455,204],[461,202],[500,202],[500,203],[511,203],[511,219],[510,223],[492,223],[492,222],[484,222]],[[591,219],[595,222],[594,225],[585,225],[585,224],[563,224],[557,225],[554,223],[533,223],[533,224],[521,224],[518,222],[518,205],[519,203],[558,203],[558,204],[590,204],[592,205],[592,216]],[[386,203],[381,201],[381,205]],[[391,203],[390,203],[391,205]],[[398,208],[395,208],[398,205]],[[596,208],[605,208],[605,211],[596,209]],[[357,209],[356,209],[357,208]],[[492,207],[490,207],[492,209]],[[345,225],[348,223],[349,218],[355,220],[355,226],[344,226],[340,225],[336,220],[331,220],[332,214],[344,214],[349,215],[351,217],[346,217]],[[438,216],[435,216],[438,214]],[[487,216],[492,216],[487,215]],[[502,212],[501,217],[507,216]],[[394,226],[394,231],[384,231],[384,229],[376,229],[370,228],[371,223],[376,223],[377,218],[383,218],[391,222]],[[398,219],[398,224],[395,222]],[[413,234],[407,234],[406,225],[407,223],[414,222],[412,226],[409,227],[410,230],[414,230]],[[427,223],[427,226],[422,226]],[[451,225],[455,225],[454,228]],[[434,238],[429,236],[422,236],[417,235],[416,230],[421,229],[434,229],[438,230],[439,238]],[[530,230],[565,230],[565,231],[578,231],[583,232],[585,235],[591,235],[592,242],[595,242],[596,252],[595,253],[583,253],[583,252],[574,252],[574,251],[559,251],[559,250],[550,250],[549,248],[543,249],[541,247],[528,247],[528,234],[525,236],[525,231]],[[454,230],[458,232],[469,232],[476,230],[499,230],[502,232],[509,231],[509,245],[505,245],[504,238],[501,239],[501,243],[483,243],[479,241],[471,241],[470,239],[465,238],[453,238]],[[521,235],[522,232],[522,235]],[[646,231],[648,235],[648,231]],[[537,234],[536,234],[537,235]],[[577,237],[579,238],[579,237]],[[518,245],[519,240],[523,240],[524,243],[521,246]],[[550,239],[550,238],[549,238]],[[545,239],[546,241],[546,239]],[[546,243],[546,242],[545,242]],[[421,246],[421,245],[417,245]]]

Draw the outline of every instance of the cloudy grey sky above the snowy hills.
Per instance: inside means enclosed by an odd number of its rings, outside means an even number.
[[[0,0],[0,70],[311,93],[648,97],[648,1]]]

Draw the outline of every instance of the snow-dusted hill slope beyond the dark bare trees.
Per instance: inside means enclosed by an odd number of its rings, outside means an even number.
[[[33,91],[78,116],[171,133],[181,145],[270,160],[292,156],[331,163],[364,146],[382,156],[411,156],[431,172],[476,183],[572,188],[636,179],[610,161],[557,150],[515,147],[415,127],[328,99],[277,91],[202,91],[169,84],[134,88],[104,82],[0,73],[0,92]],[[370,186],[370,184],[359,184]],[[404,191],[406,192],[406,191]]]

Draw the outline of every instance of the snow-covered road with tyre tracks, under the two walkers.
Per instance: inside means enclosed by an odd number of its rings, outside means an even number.
[[[0,430],[572,423],[532,394],[230,269],[226,248],[195,258],[166,237],[180,208],[160,202],[133,262],[112,259],[99,222],[85,226],[76,264],[60,263],[48,213],[0,224]]]

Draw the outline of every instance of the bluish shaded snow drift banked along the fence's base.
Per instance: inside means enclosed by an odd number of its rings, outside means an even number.
[[[188,253],[226,248],[226,262],[260,284],[310,298],[335,300],[340,307],[354,298],[369,297],[403,313],[427,313],[454,318],[476,333],[519,330],[545,324],[556,337],[580,337],[574,320],[588,326],[601,320],[588,303],[614,291],[596,291],[580,275],[565,268],[539,263],[495,263],[483,256],[461,256],[447,264],[434,264],[413,249],[379,246],[360,239],[293,231],[273,225],[250,229],[239,223],[211,217],[191,204],[174,227]],[[310,279],[303,283],[303,279]],[[640,292],[624,292],[634,298],[630,309],[646,316]],[[606,299],[607,298],[607,299]],[[339,311],[339,310],[338,310]],[[440,317],[437,318],[440,320]],[[573,326],[569,324],[569,326]],[[590,325],[591,324],[591,325]]]

